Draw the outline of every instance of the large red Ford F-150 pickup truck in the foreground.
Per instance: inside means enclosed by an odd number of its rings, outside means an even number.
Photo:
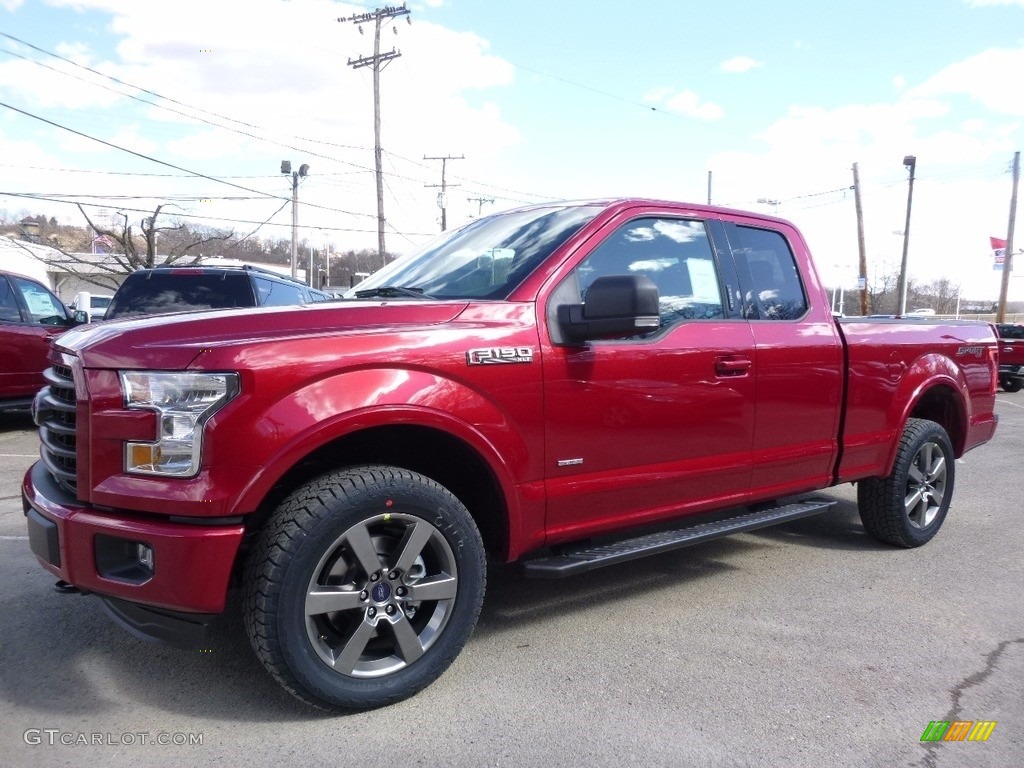
[[[925,544],[996,426],[989,324],[837,321],[792,224],[648,200],[481,218],[339,302],[75,329],[51,362],[23,495],[58,587],[183,646],[237,587],[327,709],[440,675],[487,556],[614,567],[846,482]]]

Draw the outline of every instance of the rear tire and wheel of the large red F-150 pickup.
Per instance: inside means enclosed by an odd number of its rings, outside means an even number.
[[[927,544],[945,520],[955,466],[952,443],[940,425],[907,420],[892,474],[857,484],[864,528],[896,547]]]

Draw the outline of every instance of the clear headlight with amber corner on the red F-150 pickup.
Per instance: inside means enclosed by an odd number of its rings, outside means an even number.
[[[239,391],[238,374],[123,371],[125,407],[157,412],[154,442],[125,443],[125,471],[191,477],[199,472],[203,425]]]

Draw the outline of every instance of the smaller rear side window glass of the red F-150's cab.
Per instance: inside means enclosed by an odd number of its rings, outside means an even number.
[[[733,250],[741,261],[745,261],[753,286],[744,302],[751,318],[802,317],[807,311],[807,297],[785,238],[773,229],[738,226],[736,230],[740,244]]]

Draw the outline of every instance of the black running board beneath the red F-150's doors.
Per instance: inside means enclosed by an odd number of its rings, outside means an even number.
[[[660,530],[635,539],[624,539],[601,545],[577,545],[548,557],[539,557],[523,563],[525,575],[534,579],[561,579],[575,575],[605,565],[635,560],[647,555],[657,555],[691,544],[701,544],[722,539],[732,534],[757,530],[769,525],[799,520],[827,512],[836,502],[825,499],[807,499],[793,504],[745,512],[724,520],[703,522],[685,528]]]

